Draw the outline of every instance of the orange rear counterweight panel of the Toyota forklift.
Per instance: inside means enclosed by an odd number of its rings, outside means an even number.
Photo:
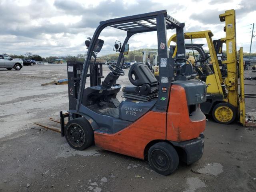
[[[197,138],[204,131],[206,118],[192,121],[188,115],[186,92],[182,86],[172,85],[167,113],[166,139],[186,141]]]

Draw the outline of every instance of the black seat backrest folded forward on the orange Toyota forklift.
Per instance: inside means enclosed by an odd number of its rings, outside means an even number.
[[[145,83],[150,86],[158,84],[158,81],[148,66],[141,62],[135,63],[130,67],[128,77],[130,82],[135,86],[142,86]]]

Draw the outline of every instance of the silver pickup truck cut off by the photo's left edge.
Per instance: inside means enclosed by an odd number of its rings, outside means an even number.
[[[23,61],[13,59],[7,55],[0,55],[0,68],[6,68],[7,70],[20,70],[23,67]]]

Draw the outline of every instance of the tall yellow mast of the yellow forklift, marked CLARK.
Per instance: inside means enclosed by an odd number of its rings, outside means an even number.
[[[238,63],[235,10],[227,10],[225,13],[220,14],[220,21],[225,22],[224,32],[226,32],[226,37],[220,40],[226,43],[227,60],[222,61],[222,64],[227,65],[228,71],[228,76],[224,80],[224,84],[226,84],[228,90],[228,102],[238,109],[240,123],[245,125],[243,49],[240,48],[239,50]],[[240,92],[238,92],[238,69],[240,75]]]

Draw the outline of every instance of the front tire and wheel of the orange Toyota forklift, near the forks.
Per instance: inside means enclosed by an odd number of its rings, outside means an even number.
[[[65,138],[76,150],[84,150],[94,142],[94,134],[90,123],[85,118],[75,118],[65,126]]]

